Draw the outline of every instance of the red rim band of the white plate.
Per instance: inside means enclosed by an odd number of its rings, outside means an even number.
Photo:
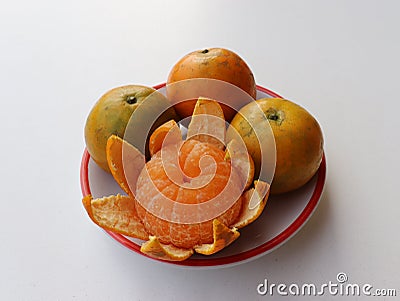
[[[155,89],[161,89],[165,87],[165,83],[159,84],[154,86]],[[258,86],[257,85],[257,90],[267,93],[268,95],[272,97],[278,97],[282,98],[280,95],[277,93]],[[90,160],[90,155],[87,149],[85,148],[82,156],[82,161],[81,161],[81,168],[80,168],[80,184],[81,184],[81,190],[82,190],[82,195],[86,196],[88,194],[91,194],[90,190],[90,184],[89,184],[89,160]],[[229,264],[234,264],[234,263],[239,263],[243,262],[246,260],[249,260],[254,257],[258,257],[260,255],[266,254],[273,249],[279,247],[282,245],[285,241],[287,241],[289,238],[291,238],[294,234],[297,233],[298,230],[302,227],[302,225],[305,224],[305,222],[310,218],[314,210],[316,209],[319,200],[322,195],[322,191],[324,188],[325,184],[325,177],[326,177],[326,159],[325,159],[325,154],[323,154],[322,157],[322,162],[321,165],[318,169],[317,172],[317,182],[314,188],[314,191],[310,197],[310,200],[308,201],[306,207],[303,209],[303,211],[300,213],[300,215],[281,233],[273,237],[272,239],[268,240],[267,242],[263,243],[260,246],[255,247],[254,249],[244,251],[242,253],[238,253],[235,255],[230,255],[226,257],[219,257],[219,258],[212,258],[212,257],[207,257],[207,258],[189,258],[184,261],[164,261],[164,260],[159,260],[155,259],[153,257],[150,257],[142,252],[140,252],[140,246],[136,244],[135,242],[129,240],[125,236],[114,233],[112,231],[107,231],[105,232],[111,236],[113,239],[115,239],[117,242],[122,244],[123,246],[127,247],[128,249],[142,255],[148,258],[151,258],[156,261],[161,261],[164,263],[170,263],[170,264],[175,264],[175,265],[180,265],[180,266],[192,266],[192,267],[212,267],[212,266],[222,266],[222,265],[229,265]]]

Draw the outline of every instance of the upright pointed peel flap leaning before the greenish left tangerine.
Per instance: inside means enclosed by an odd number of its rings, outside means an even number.
[[[106,154],[115,181],[123,191],[133,196],[132,190],[135,189],[137,178],[145,165],[144,155],[136,147],[115,135],[107,140]]]

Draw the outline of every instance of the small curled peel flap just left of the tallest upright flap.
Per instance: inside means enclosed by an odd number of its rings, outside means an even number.
[[[181,141],[182,133],[178,124],[175,120],[170,120],[158,127],[153,134],[151,134],[149,140],[150,155],[153,156],[162,146],[178,144]]]

